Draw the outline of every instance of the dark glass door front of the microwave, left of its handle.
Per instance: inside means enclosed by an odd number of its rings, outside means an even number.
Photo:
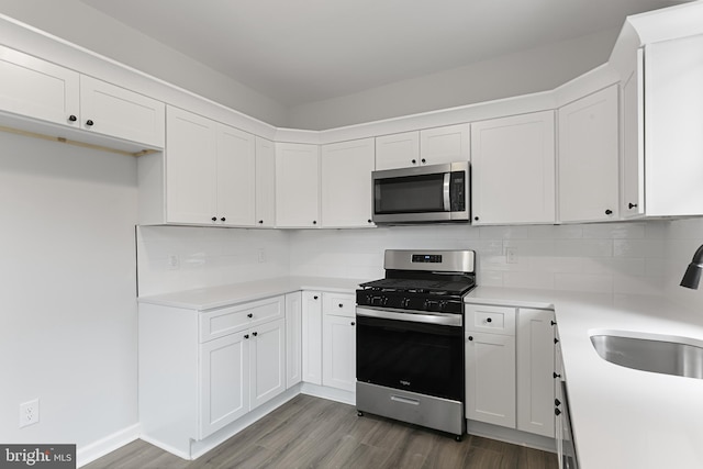
[[[393,213],[445,212],[444,172],[377,179],[373,211]]]

